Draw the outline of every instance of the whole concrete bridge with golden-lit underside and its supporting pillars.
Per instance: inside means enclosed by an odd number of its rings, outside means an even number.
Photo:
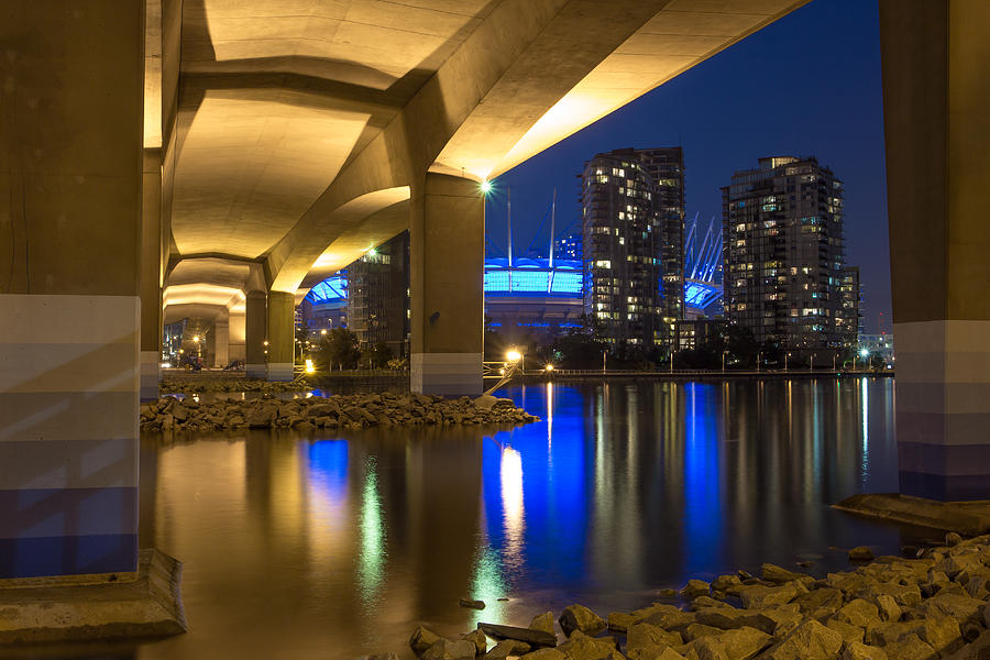
[[[803,2],[4,3],[0,578],[134,569],[165,320],[282,377],[298,298],[409,229],[413,387],[476,394],[479,182]],[[990,8],[881,25],[902,469],[952,496],[990,474]]]

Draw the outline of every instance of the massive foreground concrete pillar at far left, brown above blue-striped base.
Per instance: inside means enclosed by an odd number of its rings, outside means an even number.
[[[0,579],[125,574],[143,3],[9,0],[0,43]]]

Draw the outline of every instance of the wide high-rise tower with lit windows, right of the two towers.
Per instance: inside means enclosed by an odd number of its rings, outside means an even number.
[[[814,157],[778,156],[722,193],[726,318],[788,350],[847,345],[843,183]]]

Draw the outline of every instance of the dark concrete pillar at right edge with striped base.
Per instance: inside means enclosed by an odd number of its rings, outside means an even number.
[[[881,0],[901,491],[990,496],[990,3]]]

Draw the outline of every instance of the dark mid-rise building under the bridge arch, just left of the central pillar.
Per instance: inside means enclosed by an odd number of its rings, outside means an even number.
[[[348,328],[359,348],[384,343],[408,354],[409,232],[405,231],[348,266]]]

